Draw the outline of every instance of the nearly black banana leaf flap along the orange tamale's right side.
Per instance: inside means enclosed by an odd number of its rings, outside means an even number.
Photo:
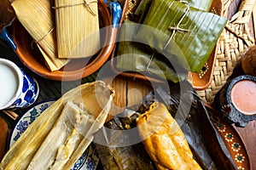
[[[189,82],[183,81],[166,89],[158,88],[142,102],[140,112],[155,101],[166,105],[181,127],[196,161],[203,169],[236,169],[223,139],[212,124],[208,111]]]

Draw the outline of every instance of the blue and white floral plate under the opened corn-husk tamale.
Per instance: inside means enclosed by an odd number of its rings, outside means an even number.
[[[45,111],[49,105],[52,105],[55,99],[48,99],[42,101],[36,105],[33,105],[28,111],[20,117],[20,120],[15,125],[11,138],[9,140],[9,147],[15,143],[20,138],[20,135],[25,132],[26,128]],[[96,147],[93,144],[84,151],[84,154],[79,158],[79,160],[74,164],[72,170],[95,170],[100,159],[96,152]]]

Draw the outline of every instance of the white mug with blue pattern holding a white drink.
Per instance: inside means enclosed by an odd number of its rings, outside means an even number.
[[[0,58],[0,110],[25,108],[36,101],[38,94],[34,77],[14,62]]]

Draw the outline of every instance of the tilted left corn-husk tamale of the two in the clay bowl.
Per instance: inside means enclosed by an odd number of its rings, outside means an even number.
[[[60,70],[68,60],[58,59],[57,55],[55,21],[51,11],[54,2],[49,0],[15,0],[11,2],[13,2],[11,6],[14,8],[18,20],[37,42],[49,70]]]

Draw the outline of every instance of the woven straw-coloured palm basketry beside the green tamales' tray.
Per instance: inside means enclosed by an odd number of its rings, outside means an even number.
[[[252,29],[254,2],[256,0],[224,0],[223,2],[224,17],[229,21],[219,37],[212,83],[207,89],[197,91],[208,105],[212,104],[218,90],[224,86],[233,73],[242,55],[254,45],[255,37],[253,37]],[[234,7],[239,8],[235,14],[232,14],[230,10],[234,10]]]

